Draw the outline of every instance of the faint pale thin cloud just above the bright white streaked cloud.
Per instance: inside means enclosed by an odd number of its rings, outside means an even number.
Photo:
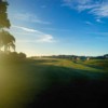
[[[38,24],[51,24],[50,22],[41,21],[35,14],[31,13],[16,13],[13,15],[14,18],[25,22],[38,23]]]

